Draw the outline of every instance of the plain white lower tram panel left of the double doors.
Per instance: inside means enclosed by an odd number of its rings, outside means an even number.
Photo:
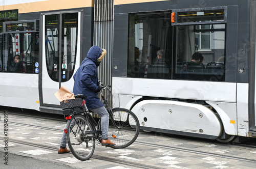
[[[39,110],[38,74],[0,73],[0,89],[1,105]]]

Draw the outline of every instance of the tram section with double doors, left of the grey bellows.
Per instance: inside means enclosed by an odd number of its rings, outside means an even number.
[[[73,74],[93,42],[92,6],[56,0],[0,4],[1,105],[61,113],[54,93],[61,86],[73,89]]]

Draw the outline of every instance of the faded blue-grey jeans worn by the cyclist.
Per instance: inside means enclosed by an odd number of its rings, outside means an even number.
[[[100,116],[101,119],[101,132],[102,137],[101,139],[108,139],[108,132],[109,132],[109,113],[106,111],[106,108],[104,106],[99,108],[93,108],[91,111],[95,112],[98,116]],[[71,128],[74,127],[74,123],[71,124]],[[65,128],[67,127],[67,124]],[[67,147],[67,140],[66,140],[66,133],[63,132],[61,141],[60,141],[60,147],[66,148]]]

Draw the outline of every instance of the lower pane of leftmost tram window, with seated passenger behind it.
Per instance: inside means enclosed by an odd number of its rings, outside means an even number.
[[[37,73],[35,63],[39,57],[38,41],[37,32],[4,34],[4,71]]]

